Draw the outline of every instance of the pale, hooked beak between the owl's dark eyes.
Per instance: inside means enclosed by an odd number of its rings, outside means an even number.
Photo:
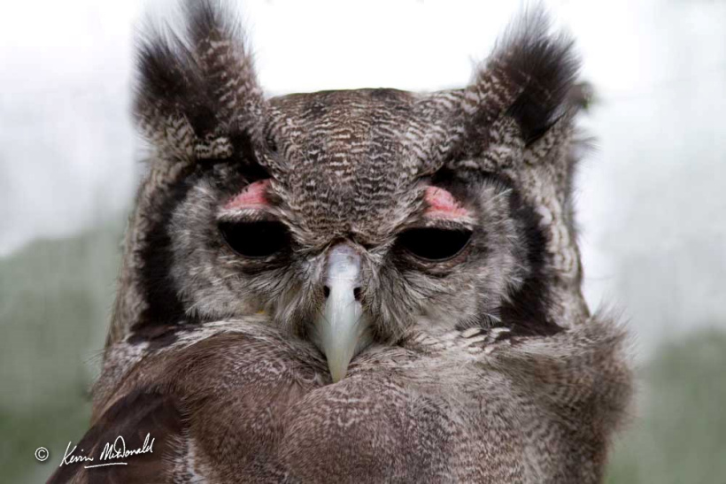
[[[341,243],[328,252],[324,284],[325,307],[315,320],[315,342],[336,382],[344,378],[367,334],[359,301],[360,256],[350,245]]]

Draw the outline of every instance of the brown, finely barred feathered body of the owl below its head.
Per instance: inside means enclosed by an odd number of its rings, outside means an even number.
[[[598,317],[549,337],[412,334],[332,384],[305,342],[202,325],[137,355],[78,445],[152,450],[49,482],[598,482],[629,396],[622,342]]]

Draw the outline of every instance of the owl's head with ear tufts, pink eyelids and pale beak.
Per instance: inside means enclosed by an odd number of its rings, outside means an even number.
[[[466,88],[267,97],[234,17],[141,43],[148,173],[110,342],[264,314],[333,380],[414,328],[554,334],[587,315],[572,223],[578,62],[541,12]]]

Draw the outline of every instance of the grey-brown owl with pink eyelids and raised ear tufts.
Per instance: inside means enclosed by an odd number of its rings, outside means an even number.
[[[568,36],[533,10],[465,88],[268,97],[234,16],[185,13],[138,48],[148,170],[73,450],[146,451],[50,482],[599,482],[631,377],[581,291]]]

